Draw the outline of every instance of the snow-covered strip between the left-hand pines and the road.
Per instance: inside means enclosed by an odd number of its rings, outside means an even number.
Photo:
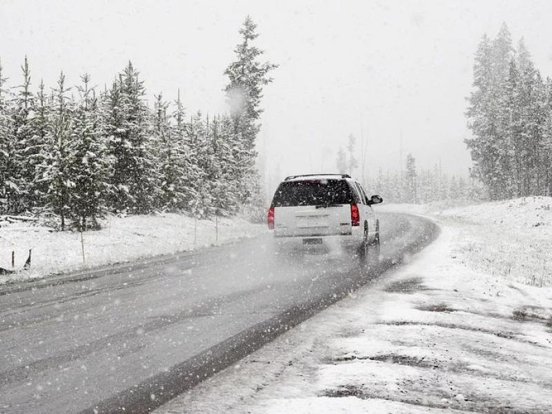
[[[250,224],[242,218],[198,220],[177,214],[110,217],[99,231],[83,233],[56,232],[34,223],[0,223],[0,267],[11,269],[12,251],[15,268],[25,263],[32,249],[32,267],[12,275],[0,275],[0,284],[34,279],[132,259],[193,250],[214,244],[251,237],[266,226]],[[197,237],[195,235],[197,234]],[[83,243],[81,243],[83,242]],[[83,257],[84,246],[84,257]]]

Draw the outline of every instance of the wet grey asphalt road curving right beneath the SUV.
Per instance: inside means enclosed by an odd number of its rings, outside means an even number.
[[[273,239],[0,289],[0,413],[147,413],[435,239],[380,213],[382,264]],[[124,408],[124,410],[123,410]]]

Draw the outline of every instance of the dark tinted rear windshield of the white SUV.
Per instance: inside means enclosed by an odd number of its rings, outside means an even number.
[[[274,207],[351,204],[353,193],[344,179],[284,181],[273,199]]]

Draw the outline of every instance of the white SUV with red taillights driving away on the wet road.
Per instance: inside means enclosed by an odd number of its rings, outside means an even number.
[[[276,190],[268,228],[280,244],[339,244],[373,261],[380,256],[380,222],[371,206],[382,201],[368,198],[346,174],[294,175]]]

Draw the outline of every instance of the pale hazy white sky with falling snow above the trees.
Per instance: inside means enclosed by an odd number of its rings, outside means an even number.
[[[109,83],[130,59],[152,96],[189,112],[226,110],[223,71],[250,14],[265,57],[266,170],[335,170],[349,133],[368,139],[368,172],[419,166],[466,174],[464,110],[473,54],[506,22],[543,75],[552,72],[551,1],[9,1],[0,0],[0,57],[10,85],[28,55],[36,87],[59,72]],[[401,138],[402,137],[402,138]],[[357,171],[359,175],[359,171]]]

